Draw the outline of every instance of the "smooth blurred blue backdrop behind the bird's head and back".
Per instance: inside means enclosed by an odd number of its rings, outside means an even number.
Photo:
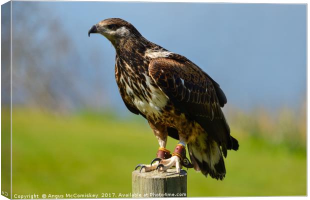
[[[13,12],[23,3],[61,20],[85,65],[82,72],[102,74],[111,106],[125,109],[114,80],[115,51],[103,36],[87,36],[91,25],[110,17],[131,22],[148,40],[195,62],[220,84],[231,106],[297,108],[305,101],[305,4],[14,1]]]

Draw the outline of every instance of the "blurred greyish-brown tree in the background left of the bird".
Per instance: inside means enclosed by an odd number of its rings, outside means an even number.
[[[74,31],[66,32],[58,16],[37,5],[27,2],[13,6],[13,104],[55,111],[92,107],[97,100],[85,91],[103,92],[96,89],[100,86],[96,82],[83,86],[87,75],[79,70],[83,62],[69,36]]]

